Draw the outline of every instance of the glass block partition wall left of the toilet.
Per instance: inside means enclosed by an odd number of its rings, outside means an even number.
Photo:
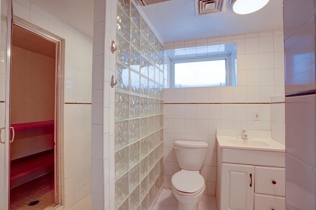
[[[163,48],[130,0],[118,0],[115,197],[148,210],[163,183]]]

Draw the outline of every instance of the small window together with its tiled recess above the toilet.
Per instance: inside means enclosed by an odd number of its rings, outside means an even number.
[[[166,49],[170,86],[237,86],[236,43]]]

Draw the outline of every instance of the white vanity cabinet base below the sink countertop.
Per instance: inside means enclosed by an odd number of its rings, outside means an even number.
[[[285,209],[284,152],[218,149],[219,210]]]

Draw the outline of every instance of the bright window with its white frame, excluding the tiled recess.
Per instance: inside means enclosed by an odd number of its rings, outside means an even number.
[[[231,56],[209,56],[171,60],[174,88],[231,85]]]

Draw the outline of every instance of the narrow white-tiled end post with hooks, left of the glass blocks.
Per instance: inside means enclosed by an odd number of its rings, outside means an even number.
[[[113,209],[115,197],[114,170],[114,90],[110,75],[115,75],[115,54],[110,43],[116,40],[116,1],[94,1],[94,41],[92,75],[92,208]],[[114,27],[114,28],[113,28]],[[111,113],[113,112],[113,113]],[[112,125],[113,124],[113,125]],[[112,142],[112,143],[111,143]]]

